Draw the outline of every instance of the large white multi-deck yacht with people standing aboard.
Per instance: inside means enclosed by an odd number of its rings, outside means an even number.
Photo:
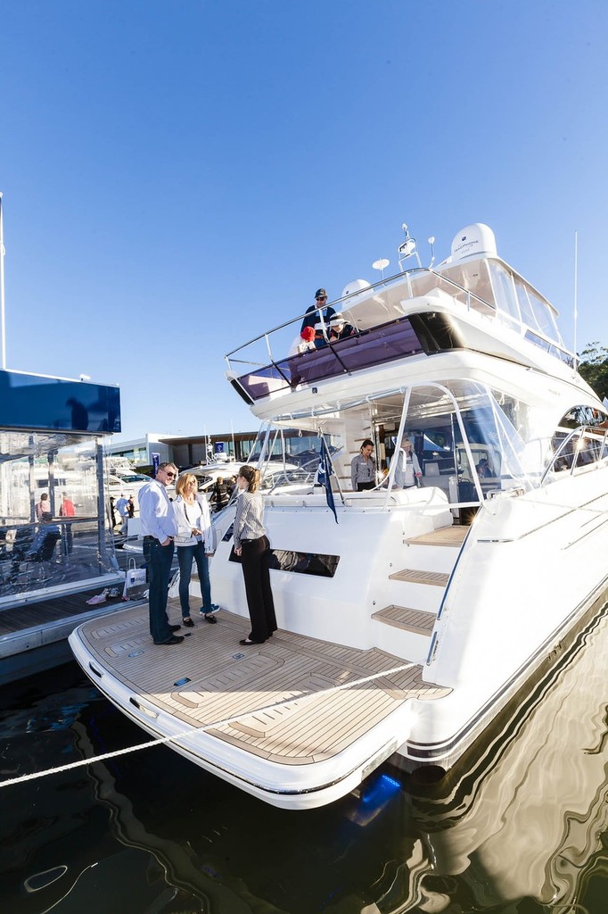
[[[397,275],[331,303],[351,335],[334,342],[320,315],[320,346],[294,345],[300,314],[227,356],[262,421],[262,470],[287,429],[327,455],[331,492],[311,478],[265,494],[279,631],[239,649],[232,503],[216,522],[219,624],[167,651],[135,608],[70,639],[142,728],[285,808],[332,802],[390,757],[474,763],[605,599],[608,415],[555,309],[487,226],[435,268],[406,269],[409,235],[399,250]],[[376,484],[354,492],[367,438]],[[420,485],[399,488],[405,438]]]

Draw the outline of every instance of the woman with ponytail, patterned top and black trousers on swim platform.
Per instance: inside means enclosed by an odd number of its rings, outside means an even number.
[[[245,579],[251,632],[241,644],[263,644],[277,631],[275,604],[270,590],[270,544],[264,529],[264,503],[259,492],[259,470],[246,464],[236,476],[234,526],[235,554],[240,556]]]

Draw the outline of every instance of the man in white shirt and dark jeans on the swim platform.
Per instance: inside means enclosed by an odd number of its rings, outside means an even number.
[[[165,489],[177,476],[174,463],[161,463],[156,477],[142,485],[138,499],[143,533],[143,558],[146,560],[150,594],[150,633],[155,644],[179,644],[179,625],[170,625],[167,616],[167,594],[173,562],[173,537],[177,525],[173,506]]]

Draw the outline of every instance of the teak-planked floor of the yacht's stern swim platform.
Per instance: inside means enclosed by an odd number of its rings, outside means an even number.
[[[180,622],[177,600],[170,601],[170,619]],[[170,647],[152,644],[147,605],[91,620],[80,631],[101,667],[136,700],[195,728],[216,724],[209,729],[216,738],[283,764],[328,759],[406,699],[449,691],[424,683],[420,665],[375,648],[360,651],[282,630],[265,644],[242,647],[248,620],[225,610],[215,625],[199,619],[183,643]],[[187,683],[176,685],[185,677]]]

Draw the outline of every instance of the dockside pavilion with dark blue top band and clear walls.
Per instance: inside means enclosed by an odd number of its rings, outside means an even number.
[[[0,609],[116,575],[103,436],[120,430],[119,388],[0,371]]]

